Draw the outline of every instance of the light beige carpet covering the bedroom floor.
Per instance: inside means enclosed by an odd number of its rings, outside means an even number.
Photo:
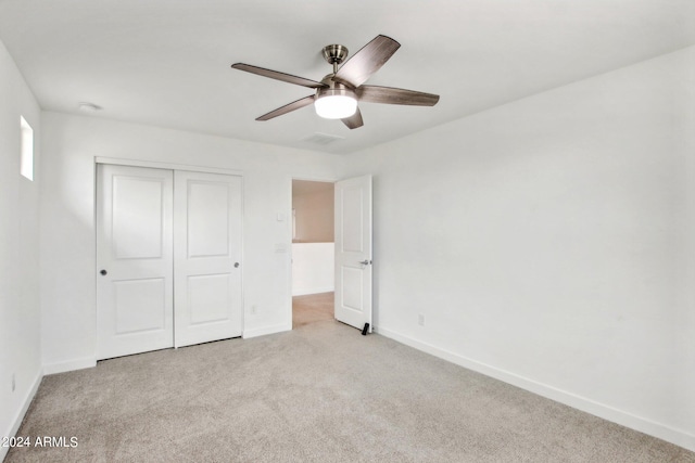
[[[292,332],[47,376],[8,462],[695,462],[695,454],[298,298]],[[303,308],[313,308],[302,312]],[[323,306],[324,313],[315,313]],[[320,312],[320,310],[318,310]]]

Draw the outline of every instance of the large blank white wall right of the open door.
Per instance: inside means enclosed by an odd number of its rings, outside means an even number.
[[[351,156],[375,175],[378,332],[695,450],[694,63]]]

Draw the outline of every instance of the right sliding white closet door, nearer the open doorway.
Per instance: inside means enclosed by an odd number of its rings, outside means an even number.
[[[176,346],[241,336],[241,177],[175,172]]]

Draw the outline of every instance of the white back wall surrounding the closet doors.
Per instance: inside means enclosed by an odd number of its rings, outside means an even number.
[[[42,129],[47,373],[94,362],[96,156],[242,170],[244,337],[291,329],[291,179],[334,178],[337,156],[56,113],[43,113]]]

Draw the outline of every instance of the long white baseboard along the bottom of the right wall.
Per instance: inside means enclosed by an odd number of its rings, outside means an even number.
[[[478,362],[476,360],[459,356],[448,350],[441,349],[431,344],[422,343],[420,340],[384,329],[382,326],[379,327],[378,332],[382,336],[392,338],[401,344],[405,344],[406,346],[410,346],[415,349],[430,353],[434,357],[439,357],[457,365],[476,371],[478,373],[482,373],[486,376],[494,377],[495,380],[503,381],[505,383],[529,390],[533,394],[538,394],[539,396],[555,400],[556,402],[560,402],[583,412],[591,413],[604,420],[608,420],[622,426],[639,430],[641,433],[648,434],[649,436],[657,437],[659,439],[683,447],[687,450],[695,451],[695,435],[690,434],[685,430],[677,429],[662,423],[657,423],[655,421],[647,420],[641,416],[635,416],[633,414],[615,409],[604,403],[596,402],[585,397],[581,397],[572,393],[568,393],[566,390],[561,390],[556,387],[535,382],[528,377],[523,377],[515,373]]]

